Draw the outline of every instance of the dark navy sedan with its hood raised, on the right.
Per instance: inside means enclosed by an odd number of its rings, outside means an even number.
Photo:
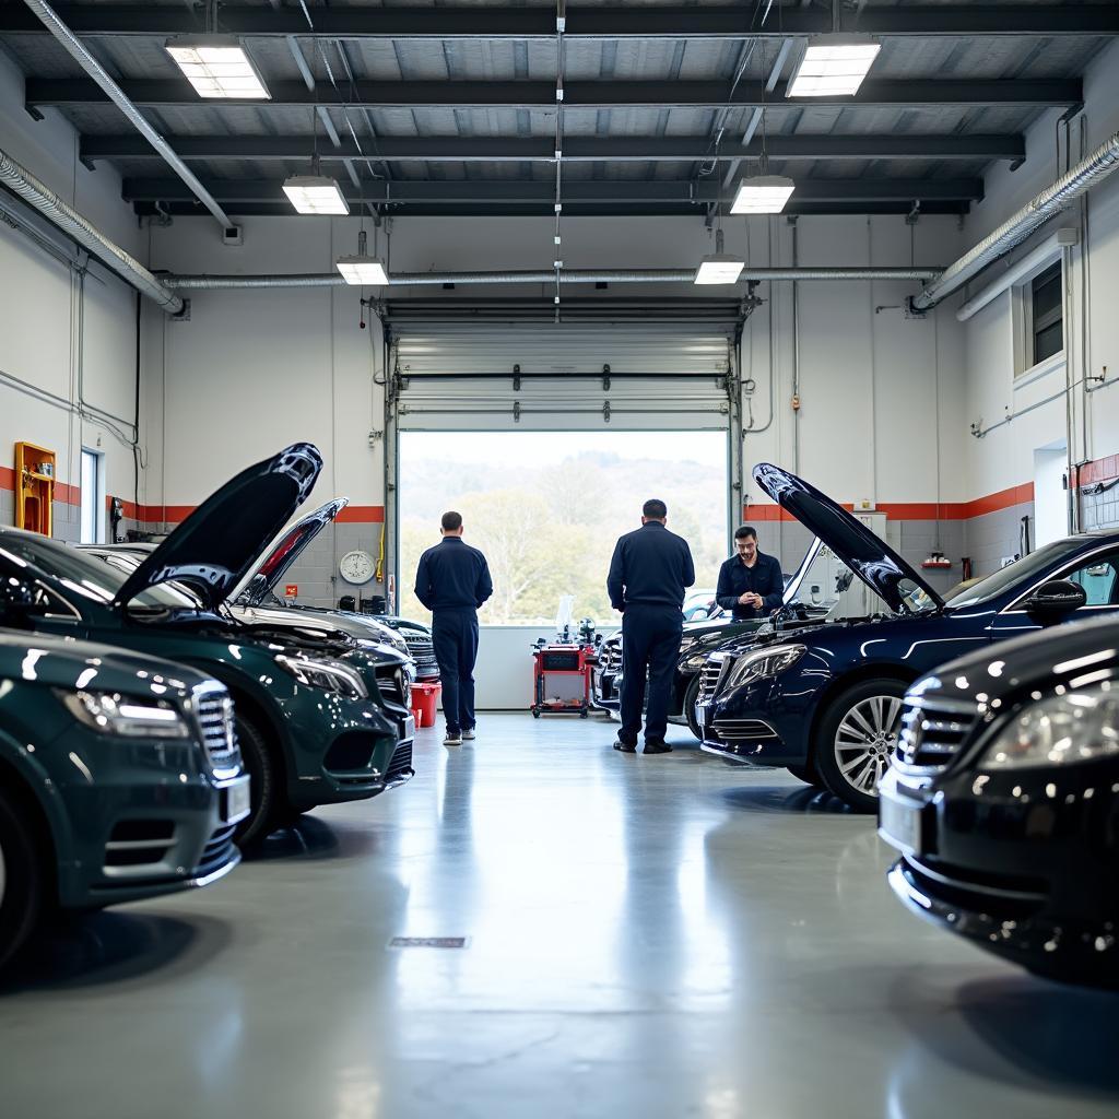
[[[769,463],[754,480],[883,603],[821,624],[778,618],[703,667],[703,747],[779,765],[862,811],[877,802],[902,697],[938,665],[993,641],[1119,609],[1119,532],[1056,540],[942,598],[885,540],[808,482]]]

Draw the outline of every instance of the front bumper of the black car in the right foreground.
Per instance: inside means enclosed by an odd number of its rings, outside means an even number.
[[[1119,986],[1115,761],[931,779],[891,770],[880,835],[919,916],[1033,971]]]

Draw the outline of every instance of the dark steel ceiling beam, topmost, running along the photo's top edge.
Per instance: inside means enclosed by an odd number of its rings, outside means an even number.
[[[567,39],[743,39],[817,35],[830,31],[830,7],[783,6],[780,18],[752,28],[755,4],[724,7],[584,7],[566,11]],[[181,8],[141,4],[63,4],[59,16],[79,35],[147,36],[198,34],[205,30],[199,6]],[[19,4],[0,7],[0,35],[41,34]],[[506,6],[441,8],[345,7],[314,9],[314,30],[297,8],[225,4],[219,28],[250,38],[295,35],[322,39],[554,39],[553,8]],[[1115,4],[902,4],[840,11],[844,31],[883,36],[1057,36],[1119,35]]]

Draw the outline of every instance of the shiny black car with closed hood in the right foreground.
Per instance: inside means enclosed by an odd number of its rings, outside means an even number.
[[[1031,971],[1119,988],[1117,727],[1115,619],[919,680],[881,783],[878,830],[902,853],[895,893]]]

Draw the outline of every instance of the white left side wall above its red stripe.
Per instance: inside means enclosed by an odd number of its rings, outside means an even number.
[[[121,200],[119,176],[104,164],[90,171],[78,162],[77,134],[55,111],[46,110],[38,122],[28,115],[22,76],[3,54],[0,149],[129,252],[143,255],[147,235]],[[57,453],[57,481],[78,487],[85,445],[104,452],[106,492],[131,500],[134,293],[100,264],[92,264],[81,282],[69,266],[7,224],[0,224],[0,372],[9,378],[0,380],[0,464],[10,468],[17,441],[37,443]],[[47,402],[43,394],[56,399]],[[84,415],[78,414],[82,401]],[[0,493],[0,521],[12,523],[12,500],[10,490]],[[56,502],[55,535],[76,537],[77,513]]]

